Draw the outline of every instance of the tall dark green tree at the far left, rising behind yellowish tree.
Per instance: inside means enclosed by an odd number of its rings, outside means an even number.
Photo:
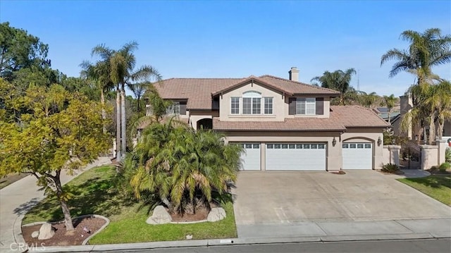
[[[27,31],[10,27],[9,23],[0,23],[0,76],[8,81],[13,74],[32,66],[47,68],[49,45],[42,43],[38,37]]]

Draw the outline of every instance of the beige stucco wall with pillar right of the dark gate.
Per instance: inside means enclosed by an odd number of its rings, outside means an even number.
[[[436,140],[435,145],[421,145],[421,169],[427,170],[445,162],[448,144],[445,140]]]

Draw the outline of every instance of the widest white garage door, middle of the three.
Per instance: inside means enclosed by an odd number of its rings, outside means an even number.
[[[267,171],[326,171],[326,144],[266,144]]]

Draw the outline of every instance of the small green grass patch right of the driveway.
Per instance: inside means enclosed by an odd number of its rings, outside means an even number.
[[[451,206],[451,175],[429,175],[426,178],[401,178],[398,180]]]

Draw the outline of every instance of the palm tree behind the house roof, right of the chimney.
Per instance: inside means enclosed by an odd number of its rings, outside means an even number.
[[[312,78],[311,81],[319,81],[321,87],[340,92],[338,104],[344,106],[347,100],[349,101],[356,97],[356,92],[354,92],[354,89],[350,86],[352,75],[355,75],[356,73],[354,68],[348,68],[345,71],[335,70],[332,73],[326,71],[323,75]]]

